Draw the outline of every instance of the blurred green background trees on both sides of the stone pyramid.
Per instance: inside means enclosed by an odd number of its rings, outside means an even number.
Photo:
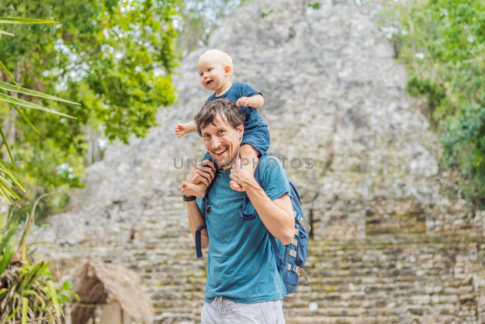
[[[158,108],[175,100],[171,75],[178,60],[207,44],[244,1],[3,0],[0,16],[61,21],[9,27],[14,38],[0,35],[0,60],[17,83],[81,103],[39,102],[77,120],[28,111],[44,138],[0,103],[26,187],[15,213],[25,217],[39,196],[52,192],[58,194],[42,199],[37,215],[60,212],[68,189],[82,187],[84,168],[102,159],[109,142],[145,136]],[[322,1],[304,2],[323,10]],[[423,113],[442,138],[441,167],[461,172],[460,194],[485,205],[485,2],[374,2],[382,4],[379,24],[408,71],[407,91],[426,102]]]

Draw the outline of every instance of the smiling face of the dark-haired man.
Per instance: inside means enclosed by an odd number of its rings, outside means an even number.
[[[244,126],[239,125],[237,129],[234,129],[226,121],[226,116],[220,115],[216,116],[214,124],[210,123],[202,129],[204,146],[221,170],[227,170],[238,157],[239,142],[244,133]]]

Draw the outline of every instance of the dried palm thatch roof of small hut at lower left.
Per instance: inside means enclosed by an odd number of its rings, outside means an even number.
[[[107,303],[108,295],[120,304],[135,322],[152,324],[151,300],[140,287],[140,278],[131,270],[109,263],[87,260],[71,275],[73,289],[80,302],[71,307],[72,324],[85,324],[97,306]]]

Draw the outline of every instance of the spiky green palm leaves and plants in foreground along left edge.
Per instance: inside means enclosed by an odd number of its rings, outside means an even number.
[[[0,17],[0,23],[49,24],[56,23],[56,21]],[[8,35],[9,37],[14,36],[14,34],[3,30],[0,30],[0,34]],[[32,127],[32,129],[36,130],[35,126],[32,125],[30,120],[23,113],[22,109],[20,109],[18,106],[35,108],[57,115],[70,117],[68,115],[49,110],[43,106],[7,95],[6,91],[10,91],[14,93],[29,94],[45,99],[69,102],[60,98],[19,87],[16,84],[15,79],[12,77],[10,71],[1,61],[0,67],[2,68],[3,72],[15,83],[14,86],[0,81],[0,102],[11,105],[12,108]],[[0,159],[0,198],[5,204],[11,204],[12,198],[18,199],[18,196],[13,189],[16,188],[24,190],[24,188],[20,182],[20,178],[17,175],[16,163],[8,147],[8,142],[6,141],[2,127],[0,127],[0,135],[15,170],[15,172],[10,170]],[[9,179],[12,183],[7,181],[7,179]],[[42,198],[42,196],[40,198]],[[40,200],[40,198],[38,200]],[[51,279],[52,274],[48,269],[49,262],[45,262],[42,259],[36,261],[28,253],[29,248],[27,244],[27,236],[33,222],[33,215],[37,201],[32,208],[32,213],[29,215],[23,226],[20,238],[17,238],[17,218],[12,216],[11,213],[8,215],[7,213],[0,215],[1,323],[20,322],[22,324],[26,324],[28,320],[36,323],[39,321],[61,323],[62,310],[60,304],[64,303],[65,301],[70,301],[70,297],[68,294],[66,294],[66,292],[69,293],[70,291],[72,293],[72,285],[70,285],[70,283],[64,283],[61,288],[56,289],[54,282]],[[18,247],[16,248],[15,245],[17,244]],[[75,293],[74,295],[79,300],[79,297]]]

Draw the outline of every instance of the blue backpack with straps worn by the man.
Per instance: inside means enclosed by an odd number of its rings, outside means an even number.
[[[254,172],[254,178],[262,188],[261,183],[259,182],[259,172],[260,168],[258,164],[256,171]],[[269,231],[268,237],[270,239],[271,246],[273,247],[273,251],[275,252],[276,266],[281,278],[283,279],[283,282],[285,283],[286,293],[291,294],[296,291],[300,276],[305,278],[306,284],[310,282],[307,273],[302,268],[305,266],[305,260],[307,259],[308,255],[308,233],[310,232],[311,227],[310,222],[303,217],[303,208],[298,191],[296,191],[296,186],[290,178],[288,178],[288,180],[290,181],[291,188],[291,205],[293,205],[293,213],[295,215],[295,235],[291,243],[284,246],[283,251],[280,251],[275,237]],[[212,187],[212,183],[210,184],[209,188],[207,188],[205,197],[202,200],[204,210],[206,212],[210,209],[210,205],[207,202],[207,195],[210,191],[210,187]],[[245,195],[242,202],[242,209],[239,211],[244,221],[252,221],[256,219],[256,215],[246,214],[248,204],[249,198],[247,195]],[[207,226],[204,224],[195,231],[195,250],[197,257],[202,257],[200,231],[206,227]]]

